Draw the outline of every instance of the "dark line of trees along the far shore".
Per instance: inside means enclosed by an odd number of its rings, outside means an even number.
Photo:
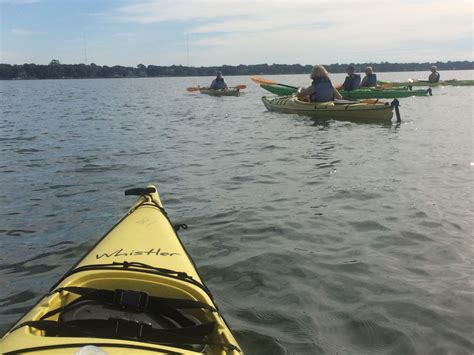
[[[372,66],[376,72],[429,71],[432,65],[438,70],[474,69],[472,61],[449,61],[436,63],[351,63],[357,71]],[[325,65],[330,73],[344,73],[349,63]],[[311,65],[301,64],[254,64],[223,65],[214,67],[187,67],[182,65],[157,66],[139,64],[136,67],[91,64],[61,64],[53,59],[48,65],[39,64],[0,64],[0,79],[79,79],[79,78],[136,78],[166,76],[213,76],[218,70],[224,75],[269,75],[306,74]]]

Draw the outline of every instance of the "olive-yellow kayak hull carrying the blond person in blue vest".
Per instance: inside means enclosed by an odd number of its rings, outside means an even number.
[[[324,103],[303,102],[294,96],[262,97],[263,104],[269,111],[296,113],[320,119],[390,122],[393,107],[389,103]]]

